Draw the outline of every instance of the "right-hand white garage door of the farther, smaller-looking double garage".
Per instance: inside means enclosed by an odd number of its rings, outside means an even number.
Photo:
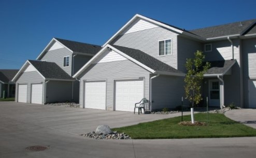
[[[42,104],[42,84],[32,84],[31,103]]]

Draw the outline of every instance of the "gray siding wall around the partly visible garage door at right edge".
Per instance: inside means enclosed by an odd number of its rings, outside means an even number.
[[[244,62],[244,102],[249,107],[249,85],[250,79],[256,79],[256,38],[242,41],[243,62]]]

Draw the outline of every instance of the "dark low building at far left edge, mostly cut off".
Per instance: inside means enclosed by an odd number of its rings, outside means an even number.
[[[0,98],[15,97],[15,83],[11,79],[18,69],[0,69]]]

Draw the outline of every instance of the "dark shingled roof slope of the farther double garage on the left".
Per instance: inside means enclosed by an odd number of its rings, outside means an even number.
[[[29,60],[29,62],[39,71],[46,79],[74,80],[60,66],[52,62],[42,62]]]

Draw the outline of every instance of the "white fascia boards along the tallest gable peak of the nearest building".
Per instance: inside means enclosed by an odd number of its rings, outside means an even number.
[[[109,44],[109,42],[112,41],[113,38],[116,38],[116,37],[119,35],[119,33],[121,33],[122,31],[124,31],[124,29],[125,29],[127,26],[129,26],[129,25],[130,25],[135,19],[137,19],[137,18],[141,18],[141,19],[150,21],[150,22],[152,22],[152,23],[154,23],[154,24],[163,26],[163,27],[165,27],[165,28],[168,28],[168,29],[173,30],[173,31],[175,31],[175,32],[177,32],[177,33],[180,33],[180,34],[183,33],[183,31],[181,31],[181,30],[179,30],[179,29],[177,29],[177,28],[175,28],[175,27],[172,27],[172,26],[163,24],[163,23],[161,23],[161,22],[159,22],[159,21],[155,21],[155,20],[153,20],[153,19],[150,19],[150,18],[147,18],[147,17],[144,17],[144,16],[141,16],[141,15],[136,14],[136,15],[135,15],[131,20],[129,20],[122,28],[120,28],[120,30],[119,30],[115,35],[113,35],[102,47],[105,47],[107,44]],[[189,35],[191,35],[191,34],[189,34]]]

